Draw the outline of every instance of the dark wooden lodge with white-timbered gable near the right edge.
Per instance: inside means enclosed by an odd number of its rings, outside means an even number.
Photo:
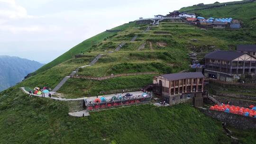
[[[240,52],[214,51],[205,55],[205,77],[234,81],[243,74],[256,74],[256,58]]]

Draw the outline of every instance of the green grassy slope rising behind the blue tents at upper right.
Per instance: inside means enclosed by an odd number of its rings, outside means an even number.
[[[219,5],[219,4],[214,4],[214,5]],[[209,7],[209,6],[205,5],[201,7],[200,6],[186,7],[186,8],[180,9],[180,11],[195,13],[196,15],[202,16],[205,18],[212,17],[212,18],[239,19],[239,20],[242,20],[244,27],[256,28],[256,2],[233,4],[233,5],[215,7],[210,9],[202,9],[206,7]],[[255,32],[255,29],[252,29],[252,30]]]

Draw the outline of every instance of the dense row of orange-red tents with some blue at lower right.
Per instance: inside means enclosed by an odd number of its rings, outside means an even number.
[[[229,106],[229,105],[215,105],[211,106],[210,110],[217,110],[217,111],[223,111],[226,113],[232,113],[237,115],[243,115],[246,117],[255,117],[256,118],[256,107],[251,105],[249,108],[243,108],[243,107],[236,107],[236,106]]]

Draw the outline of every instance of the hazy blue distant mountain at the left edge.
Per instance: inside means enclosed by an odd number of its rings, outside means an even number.
[[[28,73],[36,71],[43,65],[16,56],[0,55],[0,91],[22,81]]]

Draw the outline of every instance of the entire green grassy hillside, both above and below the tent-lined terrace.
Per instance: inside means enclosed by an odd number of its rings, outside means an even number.
[[[255,3],[241,4],[251,17]],[[238,5],[230,5],[233,7]],[[185,9],[185,8],[184,8]],[[190,8],[192,9],[192,8]],[[219,10],[218,10],[219,9]],[[216,14],[223,7],[198,10],[201,16]],[[216,17],[233,17],[236,11],[218,13]],[[236,17],[234,17],[236,18]],[[238,17],[239,18],[239,17]],[[247,26],[251,21],[241,18]],[[204,116],[188,105],[157,108],[132,106],[92,112],[91,117],[68,116],[66,103],[52,99],[29,98],[19,87],[54,88],[79,66],[87,65],[98,54],[104,54],[95,65],[77,74],[105,76],[128,72],[172,73],[189,69],[188,53],[205,54],[215,49],[234,50],[238,44],[256,44],[255,29],[208,31],[186,23],[160,23],[144,33],[149,25],[129,23],[116,27],[119,32],[103,32],[46,64],[16,86],[0,93],[0,144],[229,144],[220,122]],[[132,37],[136,41],[131,42]],[[124,42],[120,51],[108,54]],[[74,54],[83,53],[81,58]],[[104,81],[69,79],[57,92],[65,98],[95,96],[101,91],[143,87],[153,75],[127,76]],[[240,131],[240,130],[239,130]],[[248,130],[249,131],[249,130]],[[255,131],[240,131],[242,143],[255,144]],[[239,137],[239,138],[240,138]]]

